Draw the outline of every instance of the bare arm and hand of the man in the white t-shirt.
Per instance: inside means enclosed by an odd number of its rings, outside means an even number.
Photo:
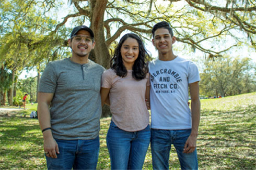
[[[191,119],[192,129],[188,140],[185,143],[183,153],[192,153],[196,147],[196,137],[200,122],[200,99],[199,99],[199,82],[189,84],[191,96]]]

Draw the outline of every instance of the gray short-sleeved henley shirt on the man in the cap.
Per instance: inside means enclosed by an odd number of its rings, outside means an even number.
[[[102,66],[91,60],[78,64],[70,58],[46,66],[38,91],[54,94],[50,104],[54,138],[87,140],[99,135],[103,71]]]

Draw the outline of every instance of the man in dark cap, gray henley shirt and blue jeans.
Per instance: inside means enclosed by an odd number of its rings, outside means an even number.
[[[38,89],[38,120],[48,169],[96,169],[104,68],[88,59],[94,33],[75,27],[72,57],[50,62]],[[50,109],[49,109],[50,108]]]

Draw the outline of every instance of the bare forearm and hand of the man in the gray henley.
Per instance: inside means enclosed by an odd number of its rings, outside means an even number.
[[[41,127],[41,130],[47,127],[51,127],[51,117],[49,105],[52,101],[53,94],[52,93],[38,93],[38,121]],[[43,132],[43,148],[44,152],[48,157],[57,158],[56,153],[59,152],[59,147],[57,142],[52,136],[52,130],[45,130]]]

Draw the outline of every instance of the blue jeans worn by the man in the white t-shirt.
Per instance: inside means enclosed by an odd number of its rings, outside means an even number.
[[[181,169],[198,169],[196,149],[192,153],[182,153],[190,134],[191,129],[151,129],[153,169],[169,169],[169,155],[172,144],[177,151]]]

